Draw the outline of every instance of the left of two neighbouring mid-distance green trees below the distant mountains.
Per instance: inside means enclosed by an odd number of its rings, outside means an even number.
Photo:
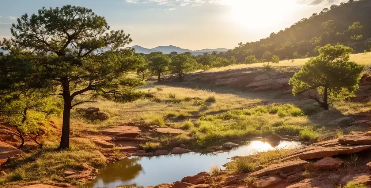
[[[171,59],[166,54],[158,54],[150,57],[148,68],[156,75],[158,75],[158,82],[161,82],[161,74],[168,71],[168,66]]]

